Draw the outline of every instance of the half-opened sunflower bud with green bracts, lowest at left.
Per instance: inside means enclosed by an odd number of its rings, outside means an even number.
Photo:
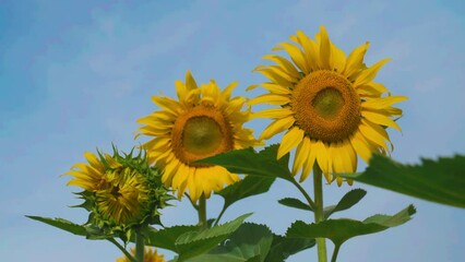
[[[76,164],[65,175],[74,178],[68,186],[84,189],[79,193],[91,212],[88,224],[111,231],[158,222],[159,210],[172,199],[162,183],[160,175],[148,166],[142,152],[138,156],[85,153],[88,164]]]

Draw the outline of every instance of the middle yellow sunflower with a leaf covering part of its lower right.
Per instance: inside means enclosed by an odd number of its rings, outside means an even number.
[[[213,80],[199,87],[188,71],[186,83],[176,81],[175,85],[178,100],[153,96],[162,110],[138,120],[145,124],[138,129],[138,135],[154,136],[143,144],[148,160],[164,170],[163,181],[177,190],[178,198],[188,189],[195,202],[202,194],[210,198],[213,190],[239,179],[220,166],[195,160],[260,143],[253,138],[253,130],[242,128],[250,110],[241,111],[245,97],[231,98],[237,82],[223,92]]]

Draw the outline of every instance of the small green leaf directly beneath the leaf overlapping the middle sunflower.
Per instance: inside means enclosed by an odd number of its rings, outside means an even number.
[[[216,192],[216,194],[225,199],[224,209],[227,209],[241,199],[267,192],[274,180],[275,178],[247,176],[242,180]]]

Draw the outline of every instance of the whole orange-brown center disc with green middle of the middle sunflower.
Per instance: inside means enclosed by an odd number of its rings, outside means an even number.
[[[234,148],[233,129],[215,107],[196,106],[176,120],[171,133],[176,157],[186,165],[207,167],[192,162]]]

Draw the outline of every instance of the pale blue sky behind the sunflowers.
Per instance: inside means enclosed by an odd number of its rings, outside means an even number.
[[[463,1],[9,1],[0,0],[0,258],[2,261],[115,261],[109,242],[87,241],[28,221],[26,214],[82,223],[86,214],[59,177],[82,153],[130,150],[135,119],[157,108],[150,96],[175,96],[174,81],[191,70],[198,82],[238,80],[235,95],[264,81],[251,70],[297,29],[313,36],[324,24],[348,53],[369,40],[367,64],[392,58],[378,74],[406,95],[403,133],[391,131],[393,158],[465,154],[465,5]],[[258,95],[253,91],[249,95]],[[253,121],[258,134],[267,122]],[[269,143],[277,142],[278,138]],[[363,166],[361,167],[363,168]],[[305,187],[309,188],[309,182]],[[460,261],[463,210],[379,190],[341,216],[392,214],[409,203],[415,218],[343,246],[341,261]],[[335,203],[348,186],[326,186]],[[308,214],[276,203],[298,196],[285,182],[225,214],[283,234]],[[222,201],[208,202],[216,216]],[[166,225],[195,223],[186,202],[167,209]],[[167,253],[169,258],[171,254]],[[314,249],[288,259],[315,260]]]

